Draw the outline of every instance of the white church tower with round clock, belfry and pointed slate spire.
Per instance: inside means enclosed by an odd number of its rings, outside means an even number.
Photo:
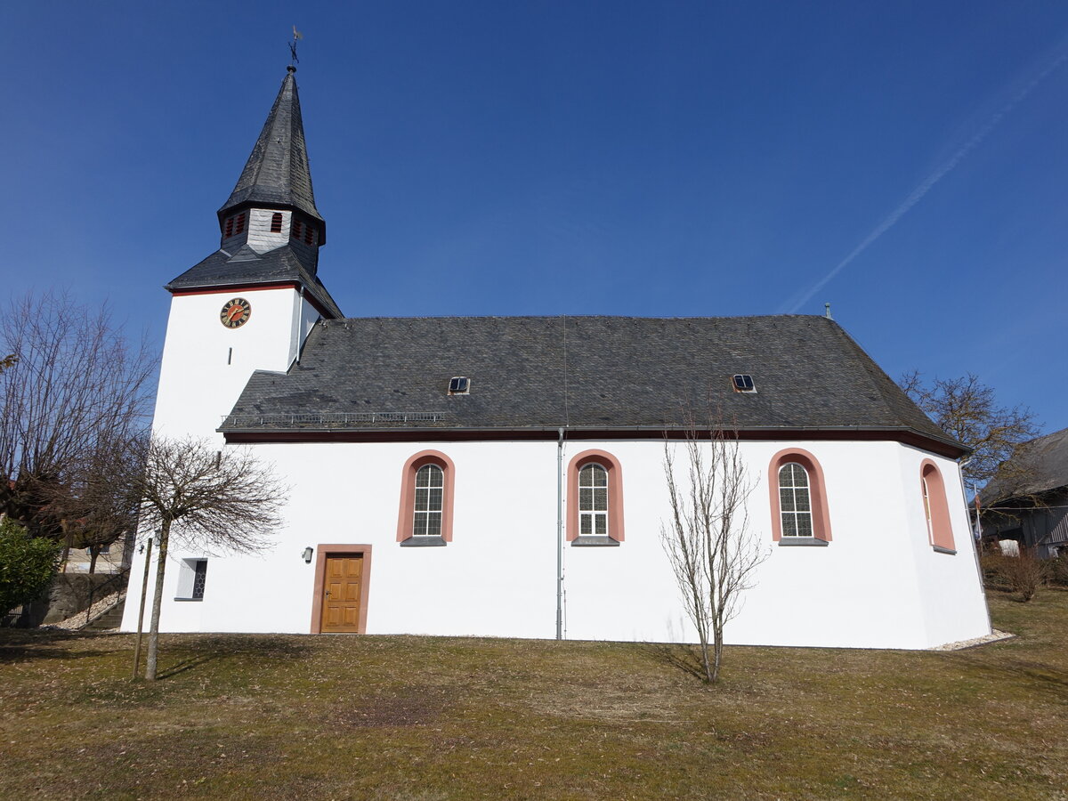
[[[215,435],[253,371],[285,372],[319,318],[342,316],[319,281],[315,206],[296,68],[218,211],[219,249],[171,281],[154,430]]]

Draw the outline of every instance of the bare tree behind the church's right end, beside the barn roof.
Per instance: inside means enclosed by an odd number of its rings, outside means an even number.
[[[914,370],[902,375],[898,386],[939,428],[972,450],[968,461],[961,464],[969,484],[986,484],[1000,468],[1005,471],[1000,481],[1026,483],[1025,476],[1008,473],[1024,469],[1009,460],[1016,446],[1038,436],[1039,426],[1030,409],[999,405],[993,388],[972,373],[928,383]]]

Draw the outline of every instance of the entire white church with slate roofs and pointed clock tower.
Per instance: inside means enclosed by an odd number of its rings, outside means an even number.
[[[729,643],[989,633],[964,449],[829,318],[344,317],[293,72],[167,285],[154,419],[271,462],[285,522],[254,555],[172,540],[161,630],[691,641],[663,455],[712,405],[764,554]]]

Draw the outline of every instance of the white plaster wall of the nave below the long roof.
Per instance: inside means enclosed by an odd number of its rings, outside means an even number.
[[[833,536],[827,547],[771,541],[767,466],[786,445],[804,447],[823,468]],[[427,447],[455,464],[454,539],[442,548],[402,548],[402,468]],[[662,443],[567,443],[564,465],[590,447],[622,465],[626,541],[618,548],[565,545],[567,637],[692,640],[659,541],[668,514]],[[989,631],[963,536],[956,555],[936,553],[927,543],[916,506],[918,466],[927,454],[894,442],[742,447],[757,482],[751,525],[767,559],[728,627],[729,642],[922,648]],[[270,532],[274,547],[257,556],[209,559],[204,600],[168,600],[163,630],[307,632],[315,563],[305,564],[300,553],[341,543],[372,546],[368,633],[554,635],[554,442],[303,443],[255,451],[293,485],[285,527]],[[953,487],[956,466],[938,464]],[[963,501],[952,492],[947,500],[957,525]],[[177,560],[203,555],[177,545],[168,599],[177,586]],[[132,575],[139,571],[136,562]],[[126,629],[137,621],[132,590]]]

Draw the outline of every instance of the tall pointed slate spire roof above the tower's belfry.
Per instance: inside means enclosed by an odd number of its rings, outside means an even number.
[[[267,122],[241,171],[241,177],[237,179],[237,186],[219,209],[219,218],[249,203],[292,206],[323,223],[312,192],[304,123],[300,116],[300,97],[292,69],[282,79],[282,88]],[[326,241],[325,223],[320,241]]]

